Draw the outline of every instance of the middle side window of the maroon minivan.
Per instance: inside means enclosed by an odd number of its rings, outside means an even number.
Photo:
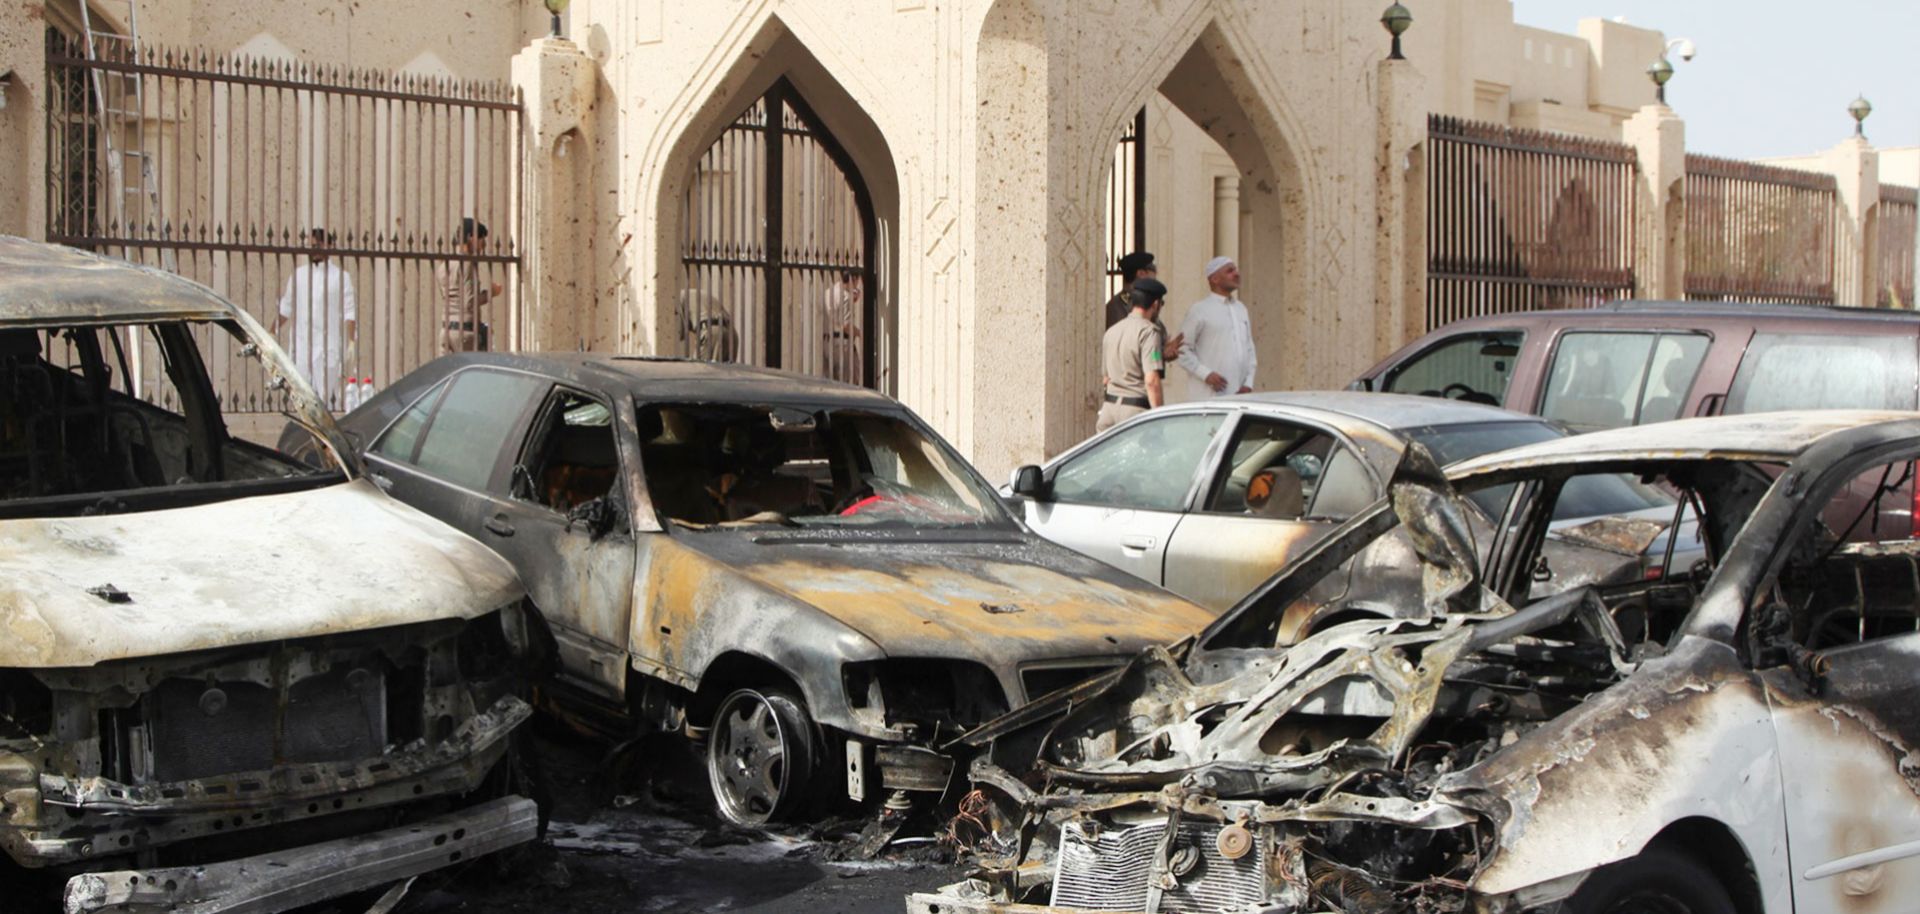
[[[1707,336],[1569,332],[1553,351],[1540,415],[1578,432],[1678,419]]]

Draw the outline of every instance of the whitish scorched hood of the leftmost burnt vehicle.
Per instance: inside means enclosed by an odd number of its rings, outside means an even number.
[[[0,520],[0,666],[33,668],[472,618],[522,593],[501,557],[365,480]]]

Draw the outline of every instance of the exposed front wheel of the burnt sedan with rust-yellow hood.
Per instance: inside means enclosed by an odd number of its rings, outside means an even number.
[[[707,778],[720,818],[760,826],[801,806],[814,768],[814,724],[801,703],[772,689],[739,689],[720,703],[707,734]]]

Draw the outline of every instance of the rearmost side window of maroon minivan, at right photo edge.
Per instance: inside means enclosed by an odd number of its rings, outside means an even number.
[[[1914,409],[1912,336],[1753,334],[1728,413]]]

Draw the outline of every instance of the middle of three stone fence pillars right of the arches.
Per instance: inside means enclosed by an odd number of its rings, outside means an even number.
[[[1686,121],[1651,104],[1622,125],[1640,156],[1640,200],[1634,227],[1634,294],[1686,298]]]

